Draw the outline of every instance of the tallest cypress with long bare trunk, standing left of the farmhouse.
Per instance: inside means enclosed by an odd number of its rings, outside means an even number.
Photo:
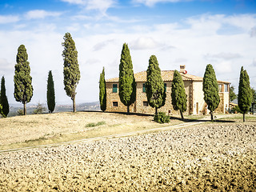
[[[76,112],[75,106],[75,92],[78,82],[80,80],[80,70],[78,65],[78,51],[75,48],[74,41],[70,33],[64,35],[64,42],[62,42],[64,50],[62,52],[64,60],[64,90],[66,95],[73,101],[73,111]]]

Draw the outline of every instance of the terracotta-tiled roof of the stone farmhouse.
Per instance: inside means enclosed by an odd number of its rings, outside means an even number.
[[[202,78],[192,75],[192,74],[183,74],[182,80],[183,81],[198,81],[202,82]],[[174,70],[162,70],[161,71],[162,81],[163,82],[172,82],[174,78]],[[137,74],[134,74],[135,82],[146,82],[146,71],[138,72]],[[119,78],[110,78],[107,79],[106,82],[118,82]],[[221,81],[218,81],[221,82]]]

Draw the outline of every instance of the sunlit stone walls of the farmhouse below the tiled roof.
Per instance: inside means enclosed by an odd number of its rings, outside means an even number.
[[[130,106],[130,112],[142,114],[154,114],[155,109],[151,106],[143,105],[147,102],[146,93],[143,92],[143,83],[137,82],[136,102]],[[179,111],[174,110],[171,104],[171,85],[172,82],[166,83],[166,104],[158,111],[166,112],[166,114],[179,114]],[[120,101],[118,91],[113,93],[113,84],[118,82],[106,82],[106,111],[126,112],[127,107]],[[206,102],[203,99],[202,82],[184,81],[184,86],[187,95],[187,106],[184,114],[209,114]],[[229,107],[229,93],[219,93],[221,102],[216,110],[216,113],[225,113],[226,108]],[[118,106],[114,106],[113,102],[118,102]],[[144,103],[145,104],[145,103]],[[227,106],[227,107],[226,107]]]

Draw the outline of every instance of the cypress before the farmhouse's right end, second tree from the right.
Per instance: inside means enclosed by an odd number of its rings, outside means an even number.
[[[210,119],[211,121],[214,121],[214,110],[217,109],[220,98],[218,95],[218,82],[214,67],[210,64],[206,66],[206,71],[202,81],[202,90],[204,100],[208,106],[208,110],[210,110]]]

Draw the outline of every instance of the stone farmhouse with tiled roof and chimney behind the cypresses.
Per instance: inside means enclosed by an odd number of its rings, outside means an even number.
[[[180,74],[184,82],[187,107],[184,114],[209,114],[206,102],[203,99],[202,78],[187,74],[185,66],[180,66]],[[162,80],[166,90],[166,104],[158,111],[166,112],[166,114],[178,114],[171,104],[171,85],[174,77],[174,70],[162,70]],[[136,89],[136,102],[130,106],[130,112],[154,114],[154,108],[148,105],[146,98],[145,82],[146,71],[134,74]],[[220,103],[215,113],[224,114],[229,111],[230,103],[230,82],[218,81]],[[118,78],[110,78],[106,80],[106,111],[126,112],[127,107],[122,104],[118,95]]]

